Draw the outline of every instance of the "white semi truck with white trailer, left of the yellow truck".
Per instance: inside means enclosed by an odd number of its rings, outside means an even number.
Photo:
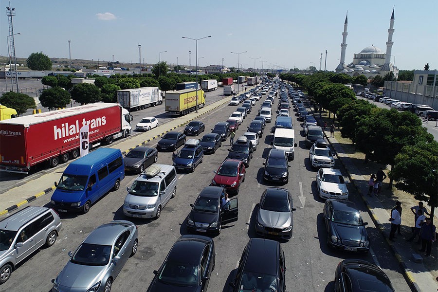
[[[144,110],[163,103],[158,87],[141,87],[117,91],[117,102],[129,111]]]

